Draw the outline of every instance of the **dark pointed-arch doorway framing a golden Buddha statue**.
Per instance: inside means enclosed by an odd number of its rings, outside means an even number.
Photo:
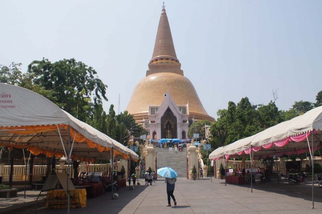
[[[177,118],[170,108],[161,117],[161,138],[178,138],[177,137]]]

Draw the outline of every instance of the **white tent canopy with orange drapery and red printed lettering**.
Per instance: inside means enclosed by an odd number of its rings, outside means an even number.
[[[18,86],[0,83],[0,115],[0,145],[59,156],[70,136],[74,157],[109,159],[113,148],[116,158],[138,159],[135,152],[47,98]]]

